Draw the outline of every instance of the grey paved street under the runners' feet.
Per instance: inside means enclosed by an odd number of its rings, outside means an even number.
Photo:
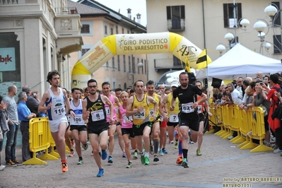
[[[196,143],[189,145],[189,168],[175,165],[178,150],[167,144],[168,154],[160,156],[158,163],[141,165],[133,160],[125,168],[127,158],[122,158],[117,139],[113,164],[102,161],[105,174],[96,177],[98,168],[91,149],[83,151],[83,165],[76,165],[78,156],[68,158],[69,172],[62,173],[59,160],[49,160],[47,165],[20,165],[6,167],[0,172],[0,187],[282,187],[282,157],[272,152],[249,153],[236,148],[228,140],[213,134],[204,135],[201,156],[196,156]],[[5,143],[4,143],[5,145]],[[21,159],[20,148],[17,158]],[[1,152],[4,163],[4,151]],[[278,177],[276,180],[262,179]],[[244,179],[242,179],[244,178]],[[245,180],[245,181],[242,181]],[[262,181],[265,180],[265,181]],[[271,182],[274,181],[274,182]],[[225,186],[226,187],[226,186]]]

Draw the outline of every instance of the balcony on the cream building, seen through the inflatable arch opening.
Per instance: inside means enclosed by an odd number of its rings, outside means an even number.
[[[172,58],[168,59],[154,59],[155,71],[158,70],[182,70],[185,69],[185,64],[182,65],[178,61],[173,61]]]

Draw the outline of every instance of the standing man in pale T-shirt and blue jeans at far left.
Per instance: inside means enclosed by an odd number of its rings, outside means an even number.
[[[17,104],[14,96],[17,93],[17,87],[14,85],[8,86],[8,95],[3,99],[6,103],[8,102],[8,107],[6,108],[6,112],[8,113],[8,129],[10,131],[7,132],[7,141],[5,148],[5,159],[6,165],[15,166],[21,165],[21,163],[16,160],[16,144],[17,144],[17,136],[18,136],[18,110]]]

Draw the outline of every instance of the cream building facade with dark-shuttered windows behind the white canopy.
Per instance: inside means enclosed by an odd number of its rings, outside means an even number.
[[[233,1],[227,0],[147,0],[147,33],[170,31],[182,35],[200,49],[206,48],[213,61],[221,55],[216,52],[219,44],[226,47],[224,54],[236,42],[267,57],[282,59],[279,51],[282,49],[281,13],[277,15],[274,28],[271,18],[264,13],[264,8],[271,3],[281,8],[282,1],[269,0],[236,0],[236,6],[233,6]],[[249,20],[246,28],[238,24],[240,18]],[[259,19],[269,24],[269,30],[264,30],[266,35],[262,38],[253,28]],[[226,40],[226,33],[233,33],[234,39]],[[264,48],[266,42],[272,43],[270,49]],[[172,54],[148,54],[148,78],[160,83],[165,82],[166,73],[181,66],[182,62]]]

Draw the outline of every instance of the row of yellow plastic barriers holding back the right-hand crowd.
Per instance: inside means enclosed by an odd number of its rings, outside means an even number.
[[[248,110],[240,110],[238,105],[222,106],[209,105],[210,111],[217,119],[213,121],[223,122],[221,131],[215,135],[226,139],[237,131],[238,136],[231,139],[233,143],[240,143],[241,149],[252,149],[250,152],[273,151],[273,148],[264,146],[265,138],[264,113],[261,107],[249,107]],[[254,114],[255,113],[255,114]],[[221,119],[222,118],[222,119]],[[219,120],[221,119],[221,120]],[[252,139],[259,140],[259,144],[253,143]]]

